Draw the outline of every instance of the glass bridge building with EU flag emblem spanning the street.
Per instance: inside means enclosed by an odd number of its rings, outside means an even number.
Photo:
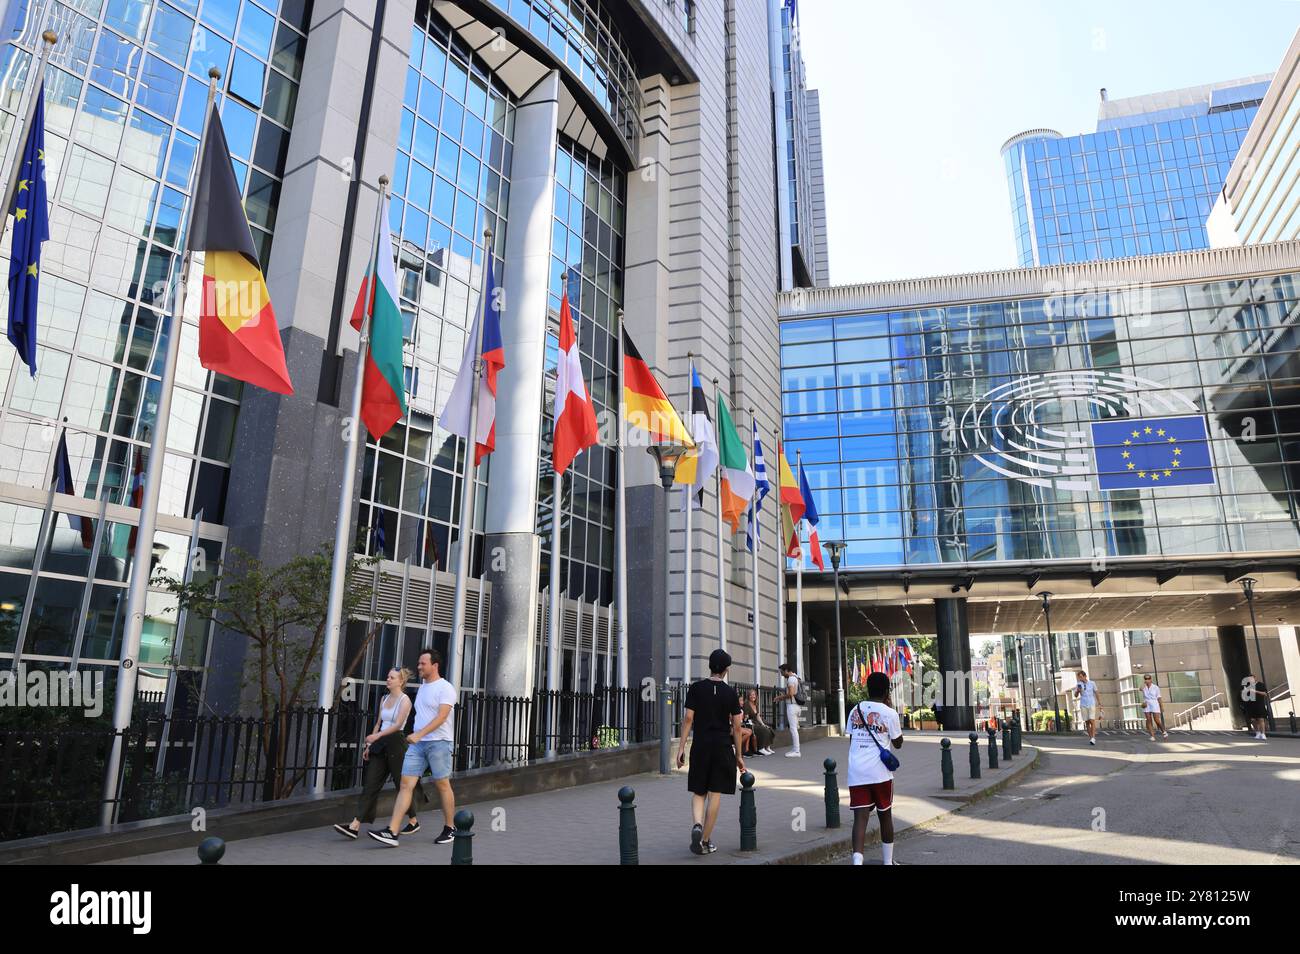
[[[1087,633],[1057,665],[1113,667],[1145,662],[1130,630],[1212,628],[1235,685],[1253,610],[1270,685],[1300,677],[1297,317],[1296,242],[783,295],[786,452],[848,543],[845,638],[935,633],[966,672],[970,634]]]

